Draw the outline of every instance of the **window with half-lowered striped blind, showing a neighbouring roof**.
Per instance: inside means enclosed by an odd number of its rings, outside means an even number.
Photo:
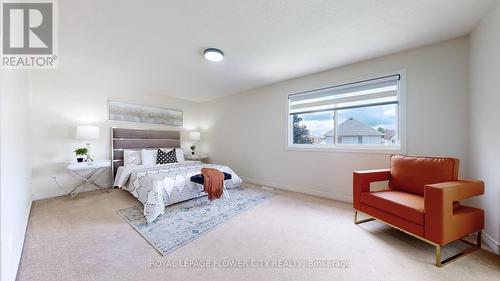
[[[400,75],[288,96],[290,147],[400,147]]]

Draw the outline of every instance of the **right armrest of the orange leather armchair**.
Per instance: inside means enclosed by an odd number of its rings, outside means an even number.
[[[460,238],[455,237],[458,225],[465,226],[470,223],[453,218],[453,201],[483,193],[484,183],[479,180],[457,180],[426,185],[424,188],[426,238],[440,244]]]

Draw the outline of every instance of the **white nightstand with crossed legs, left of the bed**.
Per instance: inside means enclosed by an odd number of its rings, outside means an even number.
[[[82,181],[68,194],[70,199],[73,199],[76,195],[78,195],[78,193],[82,192],[87,187],[87,184],[93,185],[99,189],[107,188],[106,186],[98,185],[95,181],[109,168],[111,168],[111,160],[96,160],[92,162],[67,164],[66,172]],[[82,175],[83,171],[85,171],[84,175]]]

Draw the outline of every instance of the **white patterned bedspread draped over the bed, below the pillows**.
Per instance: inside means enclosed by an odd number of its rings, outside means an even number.
[[[231,174],[224,181],[226,188],[239,187],[242,180],[231,168],[199,161],[158,165],[129,165],[118,168],[114,186],[129,191],[144,205],[148,223],[165,213],[165,207],[195,198],[203,187],[191,182],[191,177],[201,174],[201,168],[214,168]]]

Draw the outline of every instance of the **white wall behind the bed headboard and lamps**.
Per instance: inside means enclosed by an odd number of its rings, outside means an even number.
[[[181,130],[182,145],[184,149],[189,149],[187,131],[197,128],[198,103],[130,89],[123,81],[113,84],[95,75],[76,75],[74,71],[77,68],[63,66],[56,71],[34,72],[30,76],[33,96],[31,145],[36,152],[32,157],[35,200],[65,195],[77,184],[64,172],[64,163],[75,161],[73,150],[85,146],[74,139],[75,127],[80,124],[100,127],[100,138],[91,146],[94,159],[110,159],[111,127]],[[184,111],[184,128],[108,121],[109,98],[180,108]],[[54,182],[54,176],[59,185]],[[98,182],[110,186],[110,173],[101,176]]]

